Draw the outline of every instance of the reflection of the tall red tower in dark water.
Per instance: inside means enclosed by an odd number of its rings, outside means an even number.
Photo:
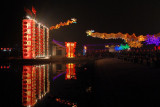
[[[23,66],[22,104],[33,106],[49,92],[49,65]]]

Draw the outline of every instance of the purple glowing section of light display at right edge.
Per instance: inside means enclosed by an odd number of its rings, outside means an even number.
[[[145,41],[146,44],[155,44],[156,46],[160,45],[160,37],[156,37],[154,35],[147,35],[147,39]]]

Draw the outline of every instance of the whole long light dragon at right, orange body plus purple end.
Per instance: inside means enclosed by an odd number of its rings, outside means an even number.
[[[99,33],[99,32],[94,32],[94,30],[88,30],[86,31],[88,36],[92,36],[95,38],[101,38],[101,39],[118,39],[121,38],[125,40],[126,43],[131,48],[140,48],[143,46],[142,42],[146,44],[155,44],[156,46],[160,45],[160,34],[156,35],[139,35],[136,36],[134,33],[132,35],[129,35],[128,33],[122,34],[121,32],[119,33]]]

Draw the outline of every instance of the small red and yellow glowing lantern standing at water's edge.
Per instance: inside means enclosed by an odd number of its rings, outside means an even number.
[[[65,42],[67,58],[75,58],[76,42]]]

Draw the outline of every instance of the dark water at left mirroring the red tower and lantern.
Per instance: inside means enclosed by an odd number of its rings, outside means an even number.
[[[85,65],[86,66],[86,65]],[[72,107],[86,105],[90,78],[83,64],[1,64],[3,107]]]

